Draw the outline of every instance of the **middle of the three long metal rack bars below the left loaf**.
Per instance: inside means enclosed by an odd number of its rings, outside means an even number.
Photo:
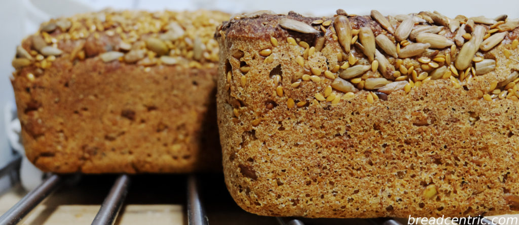
[[[130,177],[127,174],[122,174],[117,177],[112,189],[108,192],[108,196],[104,199],[99,212],[95,215],[92,225],[111,225],[114,223],[122,203],[128,194],[129,186]]]

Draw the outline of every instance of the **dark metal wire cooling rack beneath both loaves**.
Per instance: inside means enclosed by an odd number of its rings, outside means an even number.
[[[6,174],[18,171],[20,167],[21,156],[17,155],[5,167],[0,168],[0,178]],[[42,182],[34,190],[27,193],[17,204],[12,206],[9,211],[0,216],[0,225],[17,224],[28,215],[33,208],[42,202],[53,191],[56,191],[61,185],[74,179],[73,175],[57,175],[52,174]],[[128,194],[132,176],[120,174],[104,199],[99,212],[93,219],[91,224],[107,225],[114,224],[121,206],[125,202]],[[209,225],[209,219],[204,210],[200,192],[199,178],[196,175],[187,177],[187,223],[189,225]],[[304,225],[302,220],[295,218],[276,217],[276,221],[280,225]],[[402,225],[401,222],[392,218],[374,218],[367,219],[367,222],[373,225]],[[497,225],[486,218],[481,219],[481,224]],[[463,224],[460,224],[463,225]]]

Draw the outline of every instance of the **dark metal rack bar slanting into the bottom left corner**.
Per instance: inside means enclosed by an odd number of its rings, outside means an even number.
[[[36,205],[42,202],[54,190],[58,189],[61,183],[62,178],[56,174],[45,179],[42,184],[27,193],[18,203],[0,217],[0,225],[11,225],[20,222]]]

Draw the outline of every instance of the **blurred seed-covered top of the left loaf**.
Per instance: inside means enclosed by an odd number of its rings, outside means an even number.
[[[228,14],[218,11],[100,11],[52,19],[25,38],[12,61],[16,74],[43,74],[57,57],[97,57],[139,66],[215,67],[214,29]],[[30,73],[30,74],[29,74]]]

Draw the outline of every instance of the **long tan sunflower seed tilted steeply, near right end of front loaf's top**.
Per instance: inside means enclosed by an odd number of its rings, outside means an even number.
[[[485,27],[477,25],[472,33],[472,38],[463,44],[459,50],[454,66],[459,70],[467,69],[472,63],[472,57],[479,50],[481,42],[483,42],[483,36],[485,35]]]

